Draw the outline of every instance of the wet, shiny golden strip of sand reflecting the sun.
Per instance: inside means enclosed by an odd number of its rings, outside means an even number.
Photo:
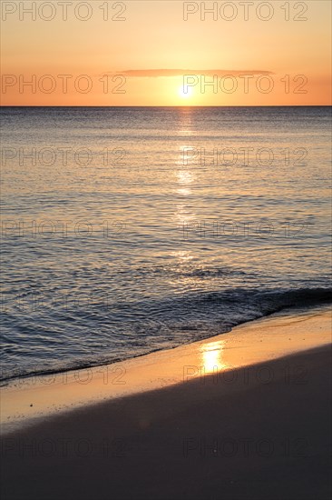
[[[195,378],[203,381],[207,375],[218,377],[315,350],[331,341],[329,321],[327,305],[301,312],[284,310],[235,326],[228,333],[122,362],[8,381],[1,387],[2,434],[105,400]]]

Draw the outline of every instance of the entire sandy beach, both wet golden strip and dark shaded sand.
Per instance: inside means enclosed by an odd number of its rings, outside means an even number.
[[[329,498],[330,320],[288,311],[6,385],[2,497]]]

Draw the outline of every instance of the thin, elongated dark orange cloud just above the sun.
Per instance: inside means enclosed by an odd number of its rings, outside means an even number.
[[[261,69],[126,69],[125,71],[108,72],[109,75],[124,75],[135,78],[158,78],[161,76],[183,75],[275,75],[272,71]]]

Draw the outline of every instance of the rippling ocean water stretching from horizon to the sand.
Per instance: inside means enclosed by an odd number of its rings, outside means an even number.
[[[3,107],[3,381],[330,300],[329,107]]]

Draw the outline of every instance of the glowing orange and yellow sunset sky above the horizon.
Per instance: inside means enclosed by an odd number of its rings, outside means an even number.
[[[1,8],[2,105],[331,105],[329,0]]]

